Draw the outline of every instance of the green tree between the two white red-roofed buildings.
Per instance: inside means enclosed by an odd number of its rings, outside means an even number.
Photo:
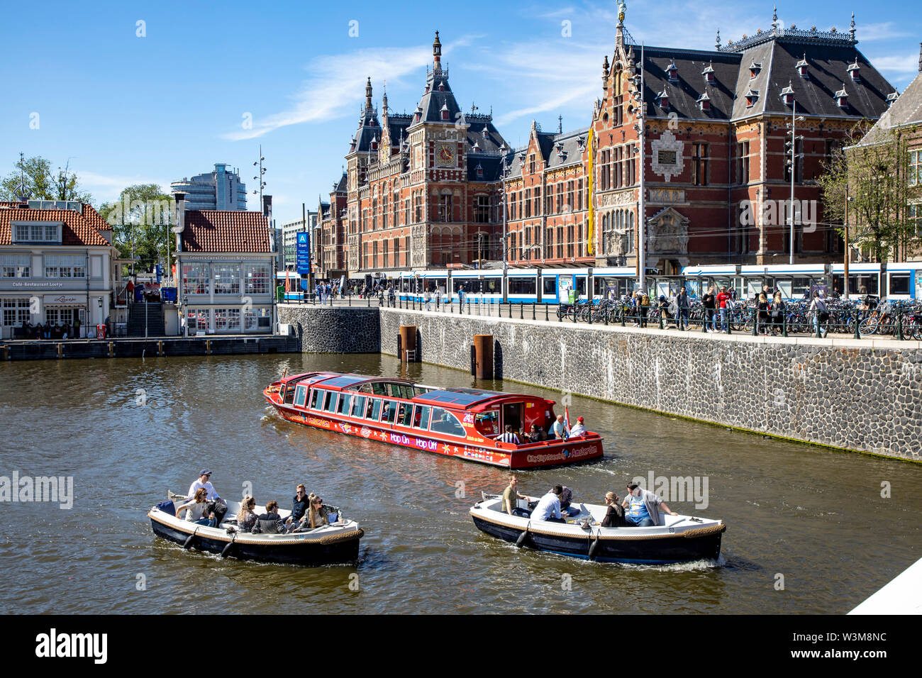
[[[159,262],[168,263],[168,246],[171,251],[175,249],[174,210],[172,197],[158,184],[135,184],[125,188],[117,201],[103,203],[100,216],[112,226],[119,256],[136,257],[137,272],[150,270]]]

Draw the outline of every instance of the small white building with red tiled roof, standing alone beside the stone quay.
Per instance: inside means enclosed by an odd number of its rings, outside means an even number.
[[[178,303],[189,336],[271,334],[275,246],[261,212],[186,209],[176,197]]]

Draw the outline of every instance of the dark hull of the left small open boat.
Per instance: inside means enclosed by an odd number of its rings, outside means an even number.
[[[350,563],[359,559],[359,541],[364,532],[361,529],[337,538],[317,540],[281,541],[266,543],[253,539],[249,535],[227,535],[219,538],[196,532],[194,524],[190,528],[180,529],[150,515],[150,525],[154,534],[162,539],[173,541],[187,548],[207,553],[223,553],[227,557],[240,560],[253,560],[259,563],[280,565],[333,565]],[[195,534],[193,534],[195,532]],[[192,537],[191,541],[190,536]],[[230,544],[230,546],[229,546]],[[225,551],[227,549],[227,551]]]

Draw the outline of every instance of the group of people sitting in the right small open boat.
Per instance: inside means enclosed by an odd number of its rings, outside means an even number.
[[[608,510],[599,523],[601,527],[649,528],[659,525],[660,513],[679,515],[660,496],[644,490],[636,482],[629,482],[627,490],[628,494],[623,500],[613,492],[605,495]],[[520,499],[525,500],[529,508],[519,507]],[[502,511],[510,516],[556,523],[565,523],[567,517],[580,514],[580,509],[573,506],[573,491],[569,487],[554,485],[547,494],[539,498],[531,497],[519,493],[518,480],[514,475],[509,476],[509,484],[502,492]]]

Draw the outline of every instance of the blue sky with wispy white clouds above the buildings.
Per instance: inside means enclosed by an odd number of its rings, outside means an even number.
[[[95,201],[128,184],[171,181],[240,167],[257,208],[253,161],[263,145],[266,193],[281,222],[315,208],[337,180],[372,77],[379,106],[411,112],[431,64],[435,30],[464,110],[492,110],[518,145],[534,118],[552,129],[587,125],[611,54],[614,2],[263,2],[20,4],[0,23],[5,83],[0,174],[19,151],[78,173]],[[847,30],[856,12],[858,49],[901,91],[916,75],[922,15],[917,0],[873,6],[834,0],[780,2],[798,28]],[[145,37],[138,37],[143,21]],[[772,3],[751,0],[628,0],[637,41],[712,49],[766,30]],[[353,23],[357,22],[357,23]],[[569,22],[570,34],[565,35]],[[352,35],[350,36],[350,32]],[[358,33],[358,35],[355,35]],[[30,128],[36,120],[38,128]],[[252,126],[244,128],[246,116]]]

